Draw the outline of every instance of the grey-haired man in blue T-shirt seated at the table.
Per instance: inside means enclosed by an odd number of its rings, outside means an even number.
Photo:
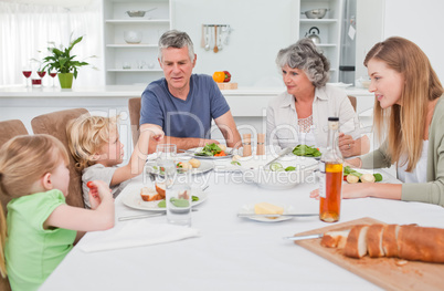
[[[211,139],[211,121],[222,132],[226,145],[241,145],[230,106],[211,76],[192,74],[197,56],[186,32],[170,30],[159,40],[159,63],[165,77],[150,83],[141,95],[140,131],[160,126],[163,143],[178,149],[218,143]],[[156,150],[150,143],[149,153]]]

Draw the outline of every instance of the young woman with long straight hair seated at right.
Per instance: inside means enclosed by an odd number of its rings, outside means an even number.
[[[444,206],[444,90],[427,56],[409,40],[389,38],[370,50],[364,65],[377,97],[374,127],[379,137],[388,133],[379,149],[347,162],[358,168],[395,164],[403,184],[345,185],[342,197]]]

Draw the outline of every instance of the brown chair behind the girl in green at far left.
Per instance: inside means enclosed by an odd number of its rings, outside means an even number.
[[[27,134],[27,127],[24,127],[24,124],[19,119],[0,122],[0,147],[12,137]],[[3,207],[4,215],[7,215],[7,205],[10,200],[9,196],[0,195],[1,207]],[[8,277],[2,278],[0,276],[0,290],[11,291]]]

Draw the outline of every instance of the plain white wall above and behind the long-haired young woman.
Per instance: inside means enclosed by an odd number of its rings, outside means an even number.
[[[444,1],[385,0],[383,38],[398,35],[416,43],[444,82]]]

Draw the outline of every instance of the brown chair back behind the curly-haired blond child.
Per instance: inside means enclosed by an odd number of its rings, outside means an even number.
[[[31,121],[34,134],[50,134],[59,138],[66,147],[70,156],[70,187],[66,204],[76,207],[85,207],[82,195],[82,173],[75,168],[74,157],[71,155],[67,144],[66,126],[72,119],[88,113],[85,108],[75,108],[43,114]]]

